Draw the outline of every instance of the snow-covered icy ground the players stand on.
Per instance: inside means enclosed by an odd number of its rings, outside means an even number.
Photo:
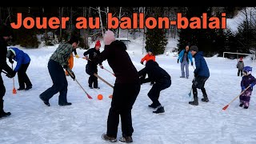
[[[139,42],[131,42],[128,47],[130,58],[137,70],[143,66],[140,59],[145,55]],[[174,46],[173,46],[174,47]],[[47,62],[56,46],[42,47],[40,49],[23,49],[32,59],[27,70],[33,88],[28,91],[18,91],[12,94],[13,81],[2,74],[6,96],[4,97],[4,110],[12,114],[0,120],[1,144],[99,144],[109,143],[102,140],[101,135],[106,132],[106,119],[111,99],[108,98],[113,90],[106,83],[98,80],[100,90],[90,90],[85,72],[86,60],[74,58],[74,74],[78,82],[93,99],[86,94],[71,78],[67,78],[68,102],[72,106],[58,106],[58,94],[50,99],[51,106],[45,106],[38,98],[42,91],[52,85],[47,70]],[[103,47],[102,47],[103,49]],[[78,50],[82,56],[85,50]],[[150,83],[143,84],[138,99],[132,110],[134,134],[136,144],[234,144],[256,142],[256,98],[253,91],[250,107],[244,110],[238,106],[238,99],[222,110],[241,92],[241,77],[237,76],[237,60],[226,58],[206,58],[210,68],[210,78],[206,82],[206,92],[210,102],[199,101],[198,106],[190,106],[190,88],[194,68],[190,66],[190,78],[179,78],[180,64],[177,57],[172,54],[158,55],[158,64],[162,66],[172,78],[172,85],[162,90],[159,98],[165,106],[165,114],[153,114],[148,105],[151,103],[147,93]],[[249,59],[245,59],[246,66],[254,66]],[[106,70],[110,70],[107,62],[103,62]],[[125,68],[125,67],[124,67]],[[253,75],[255,69],[253,68]],[[107,82],[114,84],[114,76],[106,70],[98,69],[98,75]],[[18,88],[18,78],[14,79],[15,88]],[[98,94],[103,95],[98,100]],[[199,99],[202,93],[198,90]],[[120,126],[120,125],[119,125]],[[118,129],[118,138],[121,137],[121,128]],[[122,143],[122,142],[117,142]]]

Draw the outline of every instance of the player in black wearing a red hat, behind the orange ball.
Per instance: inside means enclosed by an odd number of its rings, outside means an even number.
[[[98,54],[100,54],[100,51],[99,51],[100,47],[101,47],[101,43],[100,43],[100,41],[97,41],[95,43],[94,48],[90,48],[83,54],[85,56],[85,59],[88,60],[88,62],[86,64],[86,74],[90,75],[90,77],[88,79],[90,89],[93,89],[93,84],[94,84],[95,89],[100,89],[100,87],[98,87],[98,78],[94,76],[94,73],[98,74],[98,68],[97,68],[97,64],[94,62],[94,58]],[[89,54],[89,58],[88,58],[87,54]],[[104,68],[102,66],[102,62],[99,63],[99,66],[102,69]]]

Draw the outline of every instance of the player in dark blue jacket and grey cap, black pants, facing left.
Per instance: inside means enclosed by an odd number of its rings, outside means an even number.
[[[203,58],[202,51],[198,51],[198,46],[191,46],[190,52],[194,57],[194,62],[196,68],[194,69],[194,80],[193,80],[193,95],[194,101],[189,102],[190,105],[198,106],[198,90],[202,90],[202,102],[209,102],[209,99],[206,94],[205,83],[206,80],[210,77],[210,71],[207,66],[205,58]]]

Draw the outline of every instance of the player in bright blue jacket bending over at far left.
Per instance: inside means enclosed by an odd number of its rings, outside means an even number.
[[[26,70],[28,66],[30,66],[30,56],[24,53],[24,51],[19,50],[17,47],[10,47],[9,50],[7,50],[6,57],[9,58],[11,64],[13,64],[14,61],[17,62],[14,68],[14,73],[18,74],[18,90],[30,90],[32,88],[32,83],[26,74]]]

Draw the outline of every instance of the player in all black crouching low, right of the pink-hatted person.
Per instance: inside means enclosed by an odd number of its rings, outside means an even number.
[[[158,65],[158,62],[154,62],[153,60],[146,62],[146,66],[142,70],[138,71],[139,77],[144,74],[148,74],[148,78],[141,79],[141,83],[151,81],[155,82],[149,93],[147,94],[152,101],[152,104],[150,104],[149,106],[154,109],[157,108],[157,110],[153,111],[153,113],[155,114],[164,113],[164,107],[158,101],[158,98],[162,90],[170,87],[170,74],[168,74],[166,70],[163,70],[162,67]]]

